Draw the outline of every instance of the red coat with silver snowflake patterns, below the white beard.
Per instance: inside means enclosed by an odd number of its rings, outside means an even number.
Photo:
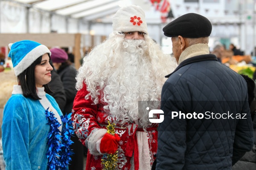
[[[72,120],[74,121],[73,127],[79,140],[88,147],[88,142],[93,133],[96,134],[97,130],[106,129],[108,121],[113,122],[113,117],[106,113],[103,109],[104,104],[99,99],[99,103],[95,105],[91,99],[84,99],[88,94],[86,85],[79,90],[73,104]],[[120,141],[118,146],[118,168],[117,170],[138,170],[139,169],[139,151],[137,143],[138,132],[143,132],[142,128],[138,128],[136,124],[121,125],[116,123],[116,134],[119,135]],[[154,162],[154,154],[157,152],[157,126],[152,124],[146,130],[146,138],[148,141],[150,164]],[[90,143],[90,142],[89,142]],[[88,147],[86,170],[102,170],[100,154],[91,154],[90,146]]]

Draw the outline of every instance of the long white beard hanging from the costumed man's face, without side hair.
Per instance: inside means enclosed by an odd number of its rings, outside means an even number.
[[[104,88],[104,101],[108,103],[105,110],[124,122],[139,120],[140,124],[150,124],[146,109],[138,114],[138,102],[160,99],[161,86],[151,74],[147,51],[145,40],[124,40],[122,59],[117,68],[111,69]]]

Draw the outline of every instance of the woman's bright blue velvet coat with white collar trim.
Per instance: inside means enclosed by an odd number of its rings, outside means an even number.
[[[5,105],[2,140],[6,170],[47,170],[47,135],[50,125],[47,125],[45,110],[46,107],[53,107],[59,116],[62,113],[55,99],[45,94],[44,89],[38,96],[48,102],[24,97],[20,86],[15,85]]]

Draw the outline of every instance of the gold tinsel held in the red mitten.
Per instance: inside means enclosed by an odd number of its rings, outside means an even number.
[[[114,135],[115,134],[115,125],[114,123],[110,123],[108,121],[108,126],[107,126],[107,133],[108,134],[111,134],[111,135]],[[103,169],[102,170],[115,170],[116,169],[116,166],[117,166],[117,151],[116,153],[114,154],[107,154],[105,153],[103,156],[102,156],[102,166],[103,166]]]

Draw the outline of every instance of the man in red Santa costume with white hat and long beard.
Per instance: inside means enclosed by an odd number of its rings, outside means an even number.
[[[87,170],[101,170],[103,154],[116,150],[116,169],[151,169],[158,124],[149,122],[139,101],[159,101],[164,75],[176,66],[148,36],[142,8],[130,5],[116,12],[113,32],[84,57],[76,77],[72,119],[88,147]],[[116,124],[114,136],[107,133],[108,122]]]

